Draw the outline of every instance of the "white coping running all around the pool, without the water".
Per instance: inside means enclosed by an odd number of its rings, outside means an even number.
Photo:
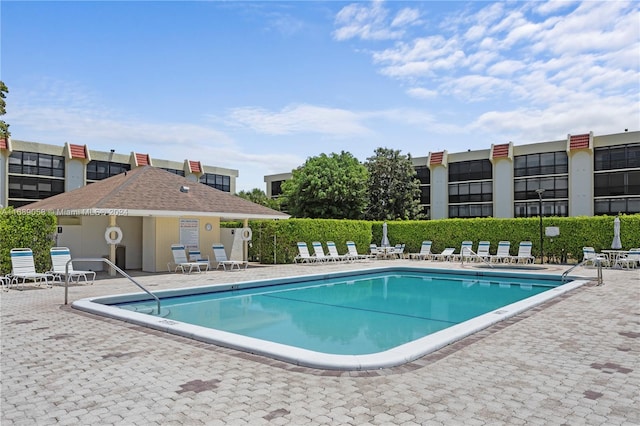
[[[487,270],[450,270],[432,267],[380,267],[373,269],[357,269],[344,272],[320,273],[303,276],[291,276],[267,280],[244,281],[233,284],[214,284],[201,287],[169,289],[154,292],[159,297],[201,294],[212,291],[239,290],[267,285],[278,285],[295,282],[312,281],[323,278],[339,278],[351,275],[376,274],[384,272],[434,272],[438,274],[467,275],[471,277],[504,276],[549,279],[557,282],[558,274],[540,274],[531,272],[504,272]],[[486,314],[477,316],[460,324],[432,333],[420,339],[405,343],[395,348],[365,355],[336,355],[296,348],[280,343],[269,342],[252,337],[241,336],[221,330],[210,329],[197,325],[154,317],[139,312],[109,306],[111,303],[149,300],[144,293],[126,293],[111,296],[101,296],[81,299],[72,303],[72,307],[85,312],[118,319],[150,329],[175,334],[196,341],[215,344],[247,353],[262,355],[298,366],[323,370],[373,370],[390,368],[409,363],[427,354],[437,351],[451,343],[459,341],[480,330],[486,329],[500,321],[513,317],[551,300],[561,294],[572,291],[589,282],[583,277],[570,277],[571,281],[559,285],[543,293],[528,297],[518,302],[498,308]]]

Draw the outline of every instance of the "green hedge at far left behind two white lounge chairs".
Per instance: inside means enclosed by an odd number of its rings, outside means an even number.
[[[53,247],[56,217],[53,213],[23,213],[12,207],[0,209],[0,274],[11,272],[12,248],[25,247],[33,251],[36,271],[51,269],[49,249]]]

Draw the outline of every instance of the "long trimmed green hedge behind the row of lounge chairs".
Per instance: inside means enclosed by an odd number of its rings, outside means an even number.
[[[613,216],[543,218],[543,229],[556,226],[560,230],[557,237],[543,237],[545,258],[552,257],[557,262],[575,262],[582,259],[584,246],[592,246],[596,251],[610,248],[613,220]],[[370,243],[380,244],[382,224],[383,222],[330,219],[250,221],[253,240],[249,257],[266,264],[291,263],[298,254],[298,241],[306,242],[309,249],[312,241],[334,241],[338,251],[345,253],[346,241],[352,240],[358,250],[365,253],[369,251]],[[387,226],[389,242],[392,245],[406,244],[405,253],[420,251],[424,240],[433,242],[432,252],[441,252],[446,247],[455,247],[457,252],[464,240],[473,241],[475,249],[479,241],[486,240],[491,242],[491,253],[495,253],[498,241],[504,240],[511,242],[511,254],[517,254],[520,241],[531,241],[533,254],[540,255],[538,217],[396,221],[387,222]],[[640,247],[640,215],[620,216],[620,229],[623,248]]]

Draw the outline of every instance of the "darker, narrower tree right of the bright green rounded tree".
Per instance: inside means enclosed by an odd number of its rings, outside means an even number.
[[[367,158],[369,170],[369,208],[367,219],[419,219],[420,181],[411,163],[411,154],[378,148]]]

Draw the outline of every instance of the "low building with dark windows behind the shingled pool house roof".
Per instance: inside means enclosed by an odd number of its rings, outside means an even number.
[[[47,145],[0,139],[0,205],[20,207],[141,166],[154,166],[235,193],[238,171],[130,154],[90,150],[87,145]]]

